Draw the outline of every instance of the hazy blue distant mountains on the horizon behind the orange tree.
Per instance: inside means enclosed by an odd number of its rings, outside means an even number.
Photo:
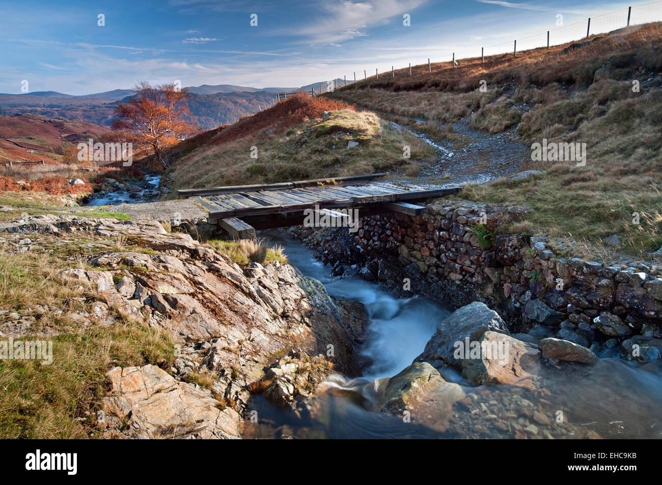
[[[338,87],[342,79],[337,79]],[[275,93],[292,93],[293,91],[310,91],[319,93],[326,91],[326,81],[312,83],[299,88],[235,86],[229,84],[202,85],[189,87],[191,100],[189,109],[197,122],[205,130],[211,130],[222,124],[252,114],[263,109],[266,104],[275,100]],[[30,113],[48,118],[65,118],[82,120],[100,126],[111,126],[115,114],[115,105],[126,102],[134,91],[131,89],[115,89],[105,93],[72,94],[57,91],[36,91],[24,94],[0,94],[0,115]]]

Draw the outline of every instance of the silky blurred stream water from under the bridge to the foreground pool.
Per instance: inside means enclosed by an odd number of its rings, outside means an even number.
[[[593,365],[558,370],[541,364],[543,385],[536,389],[505,384],[476,387],[457,371],[444,368],[442,376],[461,385],[473,405],[471,411],[453,408],[450,412],[440,404],[440,409],[431,411],[436,415],[426,426],[367,410],[379,385],[375,379],[391,377],[410,365],[451,310],[424,297],[395,298],[379,285],[351,274],[332,277],[330,268],[315,260],[303,244],[275,231],[268,236],[283,246],[293,266],[321,281],[330,295],[365,305],[369,323],[361,352],[371,365],[358,379],[330,376],[308,405],[296,410],[281,410],[254,396],[252,410],[258,411],[259,421],[246,424],[245,437],[662,437],[659,361],[638,366],[600,359]],[[447,427],[449,417],[453,424]],[[438,426],[440,422],[444,426]]]

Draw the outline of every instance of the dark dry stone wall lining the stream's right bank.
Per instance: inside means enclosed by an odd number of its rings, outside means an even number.
[[[326,262],[355,264],[402,295],[422,293],[454,307],[482,301],[517,332],[612,349],[626,359],[659,358],[661,268],[564,257],[545,238],[498,231],[528,211],[441,201],[421,216],[363,217],[354,235],[346,229],[299,234]],[[497,233],[493,248],[482,248],[472,231],[481,220]]]

